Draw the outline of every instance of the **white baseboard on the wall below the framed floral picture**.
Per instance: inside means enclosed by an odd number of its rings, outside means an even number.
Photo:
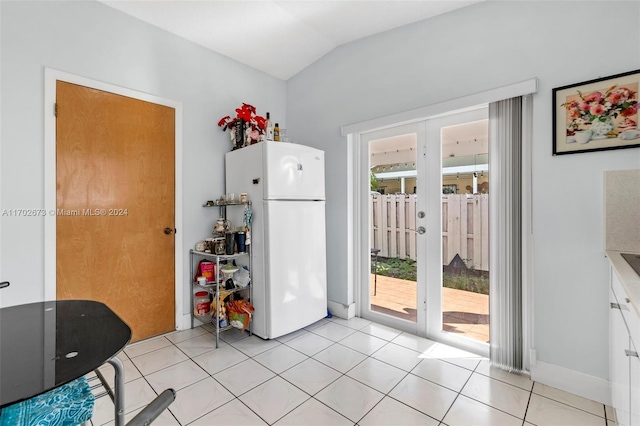
[[[609,381],[537,360],[531,364],[531,380],[583,398],[611,405]]]

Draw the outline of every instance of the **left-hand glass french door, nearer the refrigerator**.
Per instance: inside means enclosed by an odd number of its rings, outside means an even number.
[[[424,335],[424,286],[420,288],[421,248],[416,212],[423,207],[418,190],[418,146],[424,123],[362,135],[363,169],[370,188],[366,200],[369,285],[362,286],[362,316]],[[423,142],[422,142],[423,143]],[[424,280],[424,278],[422,278]],[[419,309],[420,307],[420,309]]]

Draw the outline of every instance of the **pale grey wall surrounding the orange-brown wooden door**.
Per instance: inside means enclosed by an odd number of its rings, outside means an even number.
[[[242,102],[284,117],[285,82],[212,53],[98,2],[0,2],[0,211],[42,208],[43,81],[50,67],[183,104],[183,312],[190,312],[187,251],[208,236],[224,192],[218,120]],[[281,123],[284,120],[279,120]],[[1,217],[2,305],[43,298],[43,220]],[[150,259],[152,261],[152,259]]]

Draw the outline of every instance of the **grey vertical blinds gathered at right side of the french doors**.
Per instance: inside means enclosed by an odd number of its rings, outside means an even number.
[[[489,104],[490,359],[523,370],[522,98]]]

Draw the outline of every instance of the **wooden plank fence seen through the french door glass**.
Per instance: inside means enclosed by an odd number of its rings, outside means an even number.
[[[379,256],[416,260],[416,195],[371,196],[371,246]],[[442,196],[442,264],[459,254],[467,267],[489,270],[489,196]]]

